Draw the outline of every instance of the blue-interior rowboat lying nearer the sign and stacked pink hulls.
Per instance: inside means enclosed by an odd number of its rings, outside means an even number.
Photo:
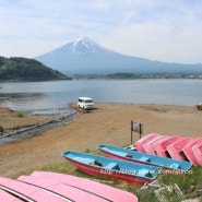
[[[100,144],[97,146],[99,151],[102,151],[106,156],[129,161],[129,162],[135,162],[146,165],[154,165],[162,167],[163,169],[175,169],[179,173],[186,173],[188,171],[192,164],[190,162],[183,162],[162,156],[155,156],[142,152],[126,150],[117,146]]]

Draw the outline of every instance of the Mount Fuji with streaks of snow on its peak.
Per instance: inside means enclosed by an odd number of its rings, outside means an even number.
[[[202,64],[153,61],[109,50],[87,37],[80,37],[35,58],[66,74],[91,73],[198,73]]]

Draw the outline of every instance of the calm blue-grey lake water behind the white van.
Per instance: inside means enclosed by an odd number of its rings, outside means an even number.
[[[78,97],[95,103],[193,106],[202,102],[202,80],[67,80],[0,83],[0,106],[14,110],[67,108]]]

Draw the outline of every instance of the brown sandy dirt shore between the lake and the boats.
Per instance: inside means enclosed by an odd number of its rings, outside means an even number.
[[[75,107],[75,106],[73,106]],[[47,117],[7,118],[11,111],[0,110],[0,124],[16,127],[19,123],[39,122]],[[167,135],[202,136],[202,111],[193,107],[96,104],[91,112],[80,111],[75,119],[64,126],[48,130],[39,135],[0,145],[0,175],[13,177],[26,170],[63,159],[66,150],[96,151],[98,144],[117,146],[130,144],[130,122],[141,122],[143,134],[161,133]],[[139,139],[133,133],[133,142]]]

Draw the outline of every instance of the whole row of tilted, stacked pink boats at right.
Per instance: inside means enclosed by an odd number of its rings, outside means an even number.
[[[202,138],[182,138],[151,133],[135,142],[139,152],[188,161],[194,166],[202,166]]]

